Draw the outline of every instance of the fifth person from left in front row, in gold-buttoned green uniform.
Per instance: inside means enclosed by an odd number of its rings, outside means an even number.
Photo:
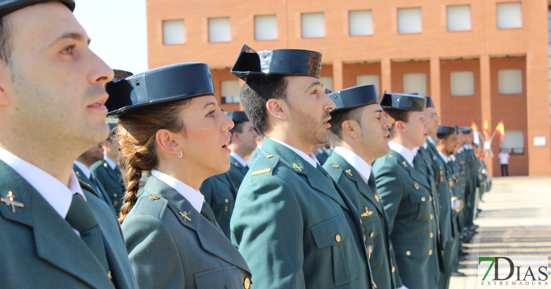
[[[414,164],[413,151],[426,139],[425,103],[419,95],[383,95],[381,107],[392,122],[391,151],[373,164],[389,219],[397,286],[410,289],[437,288],[441,271],[434,184]]]

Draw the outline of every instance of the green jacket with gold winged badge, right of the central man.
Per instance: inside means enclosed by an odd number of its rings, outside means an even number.
[[[390,255],[388,237],[388,217],[383,208],[371,174],[370,185],[366,184],[360,174],[338,153],[332,153],[323,168],[347,194],[348,199],[361,213],[361,226],[364,228],[366,245],[371,265],[371,275],[377,288],[395,288],[394,274]]]

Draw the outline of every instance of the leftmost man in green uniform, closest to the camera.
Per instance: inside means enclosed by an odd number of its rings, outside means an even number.
[[[2,288],[137,288],[116,217],[73,172],[107,138],[113,78],[74,6],[0,1]]]

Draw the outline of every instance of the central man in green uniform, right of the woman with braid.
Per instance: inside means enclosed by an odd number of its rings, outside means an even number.
[[[334,103],[320,82],[321,53],[244,46],[231,73],[262,150],[231,218],[256,288],[372,288],[360,214],[317,163]]]

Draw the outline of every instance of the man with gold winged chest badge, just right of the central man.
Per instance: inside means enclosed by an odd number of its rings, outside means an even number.
[[[396,288],[391,263],[388,217],[377,194],[371,163],[384,156],[390,121],[379,105],[375,85],[361,85],[330,93],[336,107],[331,111],[329,137],[334,151],[323,168],[343,189],[360,212],[367,238],[369,263],[377,288]]]

